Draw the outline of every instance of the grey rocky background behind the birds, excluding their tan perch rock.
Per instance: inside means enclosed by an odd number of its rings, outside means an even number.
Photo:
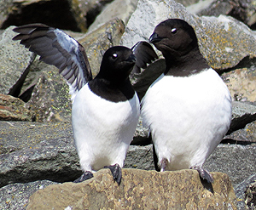
[[[28,198],[35,191],[49,184],[73,181],[82,173],[73,145],[67,83],[54,66],[40,62],[35,54],[12,41],[14,26],[40,22],[66,30],[86,49],[95,76],[107,48],[119,44],[131,47],[138,41],[147,41],[154,26],[167,18],[186,20],[195,28],[201,53],[224,79],[233,97],[230,131],[205,167],[229,175],[238,209],[255,209],[253,0],[1,1],[1,209],[26,209]],[[157,60],[132,78],[140,98],[164,68],[163,60]],[[154,170],[151,139],[142,122],[137,126],[125,167]]]

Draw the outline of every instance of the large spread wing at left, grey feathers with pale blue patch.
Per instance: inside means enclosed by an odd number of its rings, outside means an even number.
[[[72,99],[92,79],[84,47],[65,32],[44,24],[19,26],[14,31],[20,34],[13,40],[21,40],[20,44],[40,55],[40,60],[59,69]]]

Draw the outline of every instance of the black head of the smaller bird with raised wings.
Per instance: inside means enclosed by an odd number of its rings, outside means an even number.
[[[110,82],[121,82],[129,77],[136,58],[130,48],[116,46],[103,54],[99,77]]]

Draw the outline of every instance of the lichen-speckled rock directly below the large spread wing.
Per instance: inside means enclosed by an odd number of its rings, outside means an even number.
[[[37,122],[71,122],[72,101],[67,82],[55,66],[43,62],[38,65],[40,75],[26,107],[36,112]]]

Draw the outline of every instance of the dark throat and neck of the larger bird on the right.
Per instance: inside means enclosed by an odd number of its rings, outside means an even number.
[[[166,59],[166,76],[189,77],[209,68],[207,60],[202,56],[199,48],[191,50],[189,54],[173,56],[164,54]]]

